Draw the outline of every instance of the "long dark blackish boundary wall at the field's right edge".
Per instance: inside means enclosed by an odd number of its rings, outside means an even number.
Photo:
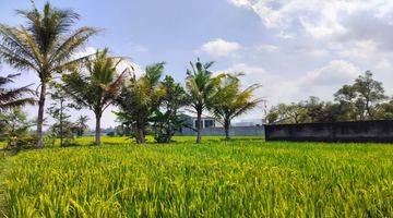
[[[265,125],[266,141],[393,143],[393,120]]]

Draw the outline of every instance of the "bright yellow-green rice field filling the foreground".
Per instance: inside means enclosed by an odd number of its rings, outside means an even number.
[[[80,140],[90,144],[92,138]],[[393,146],[233,142],[22,152],[0,161],[8,217],[393,217]]]

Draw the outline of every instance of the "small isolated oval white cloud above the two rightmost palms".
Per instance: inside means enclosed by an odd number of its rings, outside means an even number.
[[[226,41],[222,38],[217,38],[205,43],[199,50],[214,57],[228,57],[240,49],[241,45],[238,43]]]

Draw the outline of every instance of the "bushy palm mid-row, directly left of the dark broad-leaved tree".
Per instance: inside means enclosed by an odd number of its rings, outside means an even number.
[[[165,94],[160,77],[164,73],[164,62],[146,66],[144,74],[130,81],[121,88],[117,98],[120,111],[119,119],[132,125],[132,134],[136,143],[145,143],[146,128],[154,111]]]

